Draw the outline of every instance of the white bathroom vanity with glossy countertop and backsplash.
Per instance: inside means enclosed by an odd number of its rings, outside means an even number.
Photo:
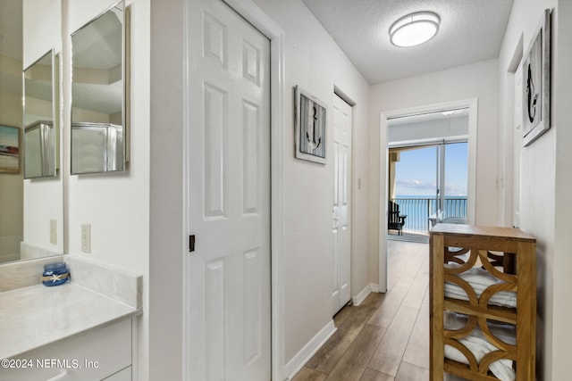
[[[70,283],[0,293],[0,379],[134,379],[141,277],[65,261]]]

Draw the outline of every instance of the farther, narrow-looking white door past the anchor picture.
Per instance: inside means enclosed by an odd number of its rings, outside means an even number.
[[[351,106],[333,95],[332,314],[351,297]]]

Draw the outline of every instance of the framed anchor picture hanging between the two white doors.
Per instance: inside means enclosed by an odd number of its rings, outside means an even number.
[[[325,104],[296,87],[296,158],[325,164]]]

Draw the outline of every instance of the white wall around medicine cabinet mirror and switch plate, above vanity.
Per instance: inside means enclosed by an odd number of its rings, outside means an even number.
[[[139,318],[138,379],[147,379],[149,325],[149,71],[150,0],[128,0],[130,9],[130,162],[124,173],[70,176],[71,33],[116,0],[63,0],[63,173],[68,253],[143,275]],[[91,253],[81,251],[81,225],[91,225]],[[168,275],[164,274],[164,277]]]

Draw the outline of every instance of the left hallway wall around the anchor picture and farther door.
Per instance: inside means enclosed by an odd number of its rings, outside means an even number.
[[[367,118],[368,84],[332,37],[299,0],[257,0],[284,30],[284,262],[286,276],[286,362],[332,319],[332,162],[320,165],[294,159],[293,87],[299,85],[328,105],[332,120],[333,88],[357,105],[353,116],[352,194],[354,206],[352,290],[367,279]],[[328,123],[326,136],[332,136]],[[332,152],[332,141],[327,145]],[[361,189],[357,189],[361,178]]]

